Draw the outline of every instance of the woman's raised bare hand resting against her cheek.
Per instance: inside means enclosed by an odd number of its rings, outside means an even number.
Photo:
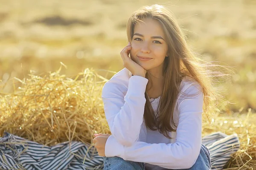
[[[129,42],[129,44],[120,52],[123,66],[131,71],[133,75],[145,77],[147,71],[129,57],[130,51],[131,43]]]

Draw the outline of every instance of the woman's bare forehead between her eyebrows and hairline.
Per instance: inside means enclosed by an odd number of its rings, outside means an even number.
[[[164,37],[164,31],[159,21],[147,18],[135,24],[134,33],[143,34],[144,36],[161,36]]]

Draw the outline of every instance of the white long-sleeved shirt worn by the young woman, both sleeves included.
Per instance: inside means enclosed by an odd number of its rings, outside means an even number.
[[[131,76],[124,68],[102,89],[102,99],[111,136],[105,145],[107,157],[144,162],[168,169],[187,169],[195,164],[201,149],[203,93],[196,82],[183,79],[175,105],[176,132],[168,139],[146,128],[143,119],[148,79]],[[195,96],[188,96],[194,94]],[[159,99],[150,99],[157,113]],[[171,122],[170,122],[171,123]]]

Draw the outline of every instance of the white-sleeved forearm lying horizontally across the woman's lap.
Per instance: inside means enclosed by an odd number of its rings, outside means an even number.
[[[109,144],[111,142],[111,144]],[[115,146],[111,149],[105,147],[107,157],[119,156],[126,161],[144,162],[154,164],[168,169],[188,169],[195,163],[201,143],[195,146],[182,143],[174,144],[148,144],[146,142],[135,142],[131,147],[119,144],[114,137],[110,136],[106,146]]]

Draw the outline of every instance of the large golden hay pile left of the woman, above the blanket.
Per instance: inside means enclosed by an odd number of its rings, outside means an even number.
[[[0,95],[0,135],[14,135],[48,146],[65,141],[92,143],[93,133],[110,133],[102,87],[107,79],[85,69],[75,79],[61,68],[39,77],[30,74],[13,94]]]

